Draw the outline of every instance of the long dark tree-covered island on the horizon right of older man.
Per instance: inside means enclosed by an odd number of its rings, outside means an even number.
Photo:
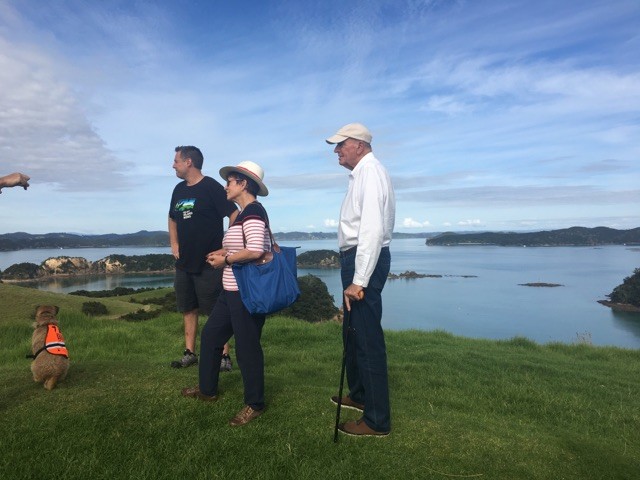
[[[571,227],[542,232],[445,232],[426,240],[428,246],[497,245],[501,247],[564,247],[640,245],[640,228]]]

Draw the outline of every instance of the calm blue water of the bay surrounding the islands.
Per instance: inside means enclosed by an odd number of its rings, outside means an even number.
[[[336,250],[335,240],[283,242],[309,250]],[[40,263],[52,256],[95,261],[109,254],[170,253],[169,248],[87,248],[0,252],[0,269]],[[390,280],[383,292],[383,325],[392,330],[440,329],[475,338],[523,336],[539,343],[573,343],[640,348],[640,315],[616,314],[597,303],[640,267],[640,249],[608,247],[427,247],[424,240],[394,240],[391,271],[439,274],[442,278]],[[337,270],[301,269],[320,277],[341,299]],[[523,283],[561,287],[526,287]],[[171,275],[56,279],[38,288],[69,291],[117,286],[171,286]]]

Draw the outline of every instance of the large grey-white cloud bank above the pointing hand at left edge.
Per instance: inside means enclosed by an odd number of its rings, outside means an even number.
[[[1,160],[61,190],[120,190],[126,164],[96,133],[64,68],[38,47],[0,36]]]

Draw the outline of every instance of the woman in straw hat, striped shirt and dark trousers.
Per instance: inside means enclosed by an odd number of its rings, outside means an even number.
[[[240,426],[260,416],[265,408],[264,355],[260,344],[265,315],[252,315],[246,309],[231,265],[257,260],[265,251],[271,250],[267,213],[256,201],[257,196],[267,196],[269,190],[263,182],[263,169],[254,162],[223,167],[220,175],[227,182],[227,199],[240,207],[240,213],[225,233],[222,249],[207,256],[211,266],[224,269],[223,291],[202,330],[199,385],[184,388],[182,395],[204,401],[218,399],[222,349],[233,336],[245,406],[229,424]]]

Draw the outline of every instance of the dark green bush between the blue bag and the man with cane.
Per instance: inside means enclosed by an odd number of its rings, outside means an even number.
[[[331,320],[338,313],[333,297],[325,283],[315,275],[305,275],[298,278],[300,298],[296,303],[278,312],[307,322],[321,322]]]

